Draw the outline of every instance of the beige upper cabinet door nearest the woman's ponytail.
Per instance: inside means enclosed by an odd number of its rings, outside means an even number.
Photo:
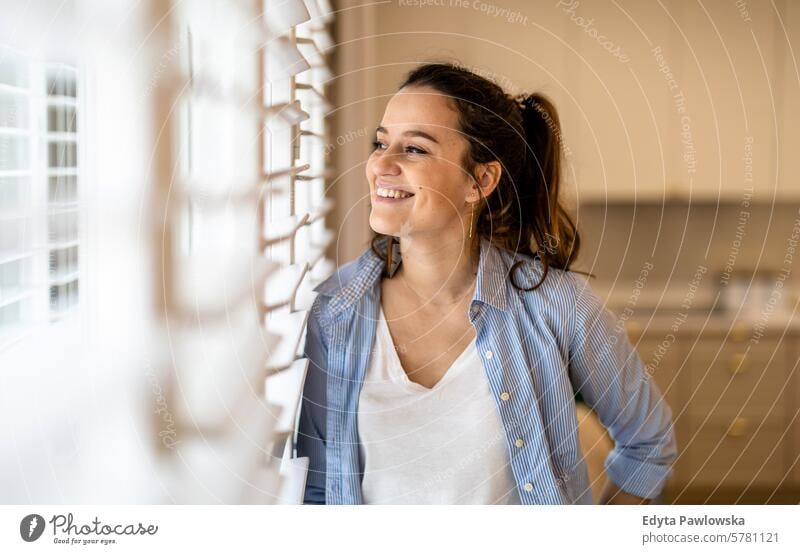
[[[568,63],[576,117],[568,137],[578,200],[663,199],[675,180],[674,121],[652,50],[670,50],[666,14],[650,3],[601,0],[562,11],[574,47]]]

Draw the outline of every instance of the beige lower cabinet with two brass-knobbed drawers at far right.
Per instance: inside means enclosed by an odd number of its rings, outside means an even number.
[[[685,398],[695,429],[685,445],[692,485],[778,486],[786,475],[788,443],[786,347],[706,337],[690,356]]]

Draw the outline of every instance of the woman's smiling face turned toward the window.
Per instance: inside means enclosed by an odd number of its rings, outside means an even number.
[[[406,87],[386,106],[367,160],[370,227],[378,233],[417,237],[463,235],[479,199],[461,167],[468,143],[448,97],[430,87]],[[381,185],[413,196],[378,198]]]

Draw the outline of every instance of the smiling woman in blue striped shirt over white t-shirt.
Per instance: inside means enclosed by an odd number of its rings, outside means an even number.
[[[660,494],[672,414],[569,269],[559,139],[544,97],[452,64],[391,98],[366,165],[376,236],[314,289],[306,503],[592,503],[576,393],[615,440],[600,502]]]

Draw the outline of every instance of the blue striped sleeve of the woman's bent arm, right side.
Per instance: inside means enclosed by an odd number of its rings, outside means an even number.
[[[677,457],[672,411],[616,316],[585,278],[569,273],[576,283],[570,378],[614,440],[606,473],[625,492],[655,498]]]

